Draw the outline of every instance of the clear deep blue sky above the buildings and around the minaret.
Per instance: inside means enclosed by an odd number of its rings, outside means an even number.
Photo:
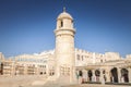
[[[75,47],[131,53],[131,0],[0,0],[0,52],[5,57],[55,49],[56,18],[74,18]]]

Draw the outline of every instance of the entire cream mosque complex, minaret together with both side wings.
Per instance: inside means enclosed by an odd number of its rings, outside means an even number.
[[[66,9],[57,17],[53,33],[53,50],[8,59],[0,52],[0,75],[47,75],[62,84],[131,83],[131,54],[121,58],[118,52],[103,54],[75,48],[73,17]]]

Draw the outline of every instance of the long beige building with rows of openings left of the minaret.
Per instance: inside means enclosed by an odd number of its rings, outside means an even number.
[[[2,63],[3,75],[50,75],[50,71],[55,74],[53,50],[11,57]]]

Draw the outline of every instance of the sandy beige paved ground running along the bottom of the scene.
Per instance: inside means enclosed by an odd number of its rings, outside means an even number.
[[[78,84],[59,86],[53,82],[46,82],[46,76],[0,76],[0,87],[131,87],[127,85]]]

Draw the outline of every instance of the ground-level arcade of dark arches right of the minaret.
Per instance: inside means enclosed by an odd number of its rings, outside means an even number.
[[[78,66],[80,83],[131,83],[131,67],[115,66]]]

